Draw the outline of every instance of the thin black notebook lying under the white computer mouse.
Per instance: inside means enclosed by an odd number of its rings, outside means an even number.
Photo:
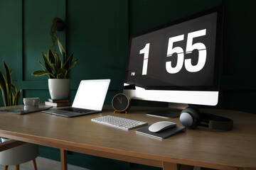
[[[138,132],[138,133],[142,133],[144,135],[149,135],[151,137],[156,137],[156,138],[159,138],[161,140],[166,138],[166,137],[169,137],[171,135],[174,135],[174,134],[176,134],[177,132],[180,132],[180,131],[185,132],[186,128],[183,127],[183,126],[175,126],[173,128],[169,128],[169,129],[163,130],[161,132],[150,132],[149,131],[149,125],[148,125],[144,128],[140,128],[139,130],[136,130],[136,132]]]

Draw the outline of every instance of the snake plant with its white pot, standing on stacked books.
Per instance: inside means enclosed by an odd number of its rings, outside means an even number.
[[[43,75],[48,76],[48,88],[50,92],[50,98],[52,99],[66,99],[69,95],[70,79],[67,79],[68,72],[71,68],[77,64],[78,60],[74,60],[74,54],[69,57],[58,40],[58,47],[63,60],[61,60],[58,52],[48,50],[48,53],[42,52],[43,63],[39,60],[39,64],[43,69],[32,72],[35,77],[41,77]]]

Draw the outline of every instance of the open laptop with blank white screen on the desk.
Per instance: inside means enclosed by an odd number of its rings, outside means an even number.
[[[53,115],[75,117],[99,113],[107,95],[110,79],[82,80],[75,94],[72,107],[43,111]]]

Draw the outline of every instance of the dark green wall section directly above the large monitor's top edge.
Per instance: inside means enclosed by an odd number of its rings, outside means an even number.
[[[131,0],[129,1],[129,33],[142,32],[193,13],[221,5],[221,0]]]

